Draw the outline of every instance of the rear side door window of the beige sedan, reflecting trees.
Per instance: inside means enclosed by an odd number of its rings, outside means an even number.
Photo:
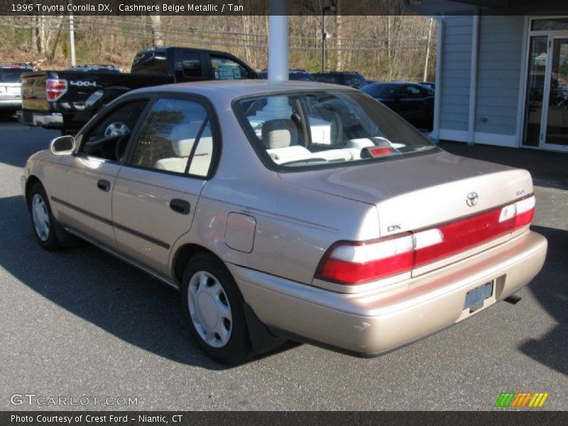
[[[148,114],[131,165],[206,177],[213,138],[207,110],[185,99],[159,99]]]

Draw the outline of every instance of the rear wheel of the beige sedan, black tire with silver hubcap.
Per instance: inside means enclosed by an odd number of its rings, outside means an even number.
[[[222,364],[252,356],[243,296],[224,263],[200,253],[183,273],[182,305],[190,333],[201,349]]]

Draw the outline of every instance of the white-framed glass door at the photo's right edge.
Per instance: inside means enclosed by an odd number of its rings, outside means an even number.
[[[541,147],[568,151],[568,37],[552,37],[548,51]]]

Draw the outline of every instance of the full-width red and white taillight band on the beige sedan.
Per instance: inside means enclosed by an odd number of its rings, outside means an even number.
[[[535,214],[530,195],[505,207],[373,241],[339,241],[322,257],[316,277],[344,285],[410,272],[527,226]]]

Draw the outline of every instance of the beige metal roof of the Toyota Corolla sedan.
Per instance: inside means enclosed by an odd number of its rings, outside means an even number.
[[[356,89],[342,86],[339,84],[328,84],[320,82],[306,82],[301,80],[285,80],[281,82],[271,82],[270,80],[211,80],[202,82],[185,82],[176,84],[164,84],[162,86],[143,87],[133,90],[132,94],[156,92],[180,92],[192,94],[202,94],[204,96],[212,93],[224,93],[227,97],[236,98],[241,96],[268,94],[278,92],[290,92],[295,90],[352,90]]]

